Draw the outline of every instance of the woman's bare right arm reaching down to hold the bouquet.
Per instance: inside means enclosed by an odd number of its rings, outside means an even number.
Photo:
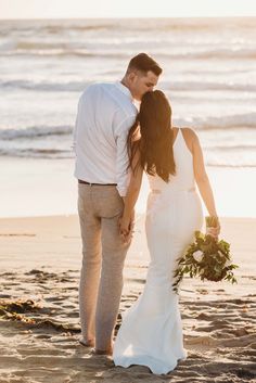
[[[209,216],[218,217],[216,206],[215,206],[214,193],[205,169],[204,156],[203,156],[200,139],[192,129],[190,129],[190,132],[192,137],[193,167],[194,167],[195,181],[199,187],[200,194],[208,210]],[[220,227],[217,228],[216,235],[219,234],[219,231],[220,231]]]

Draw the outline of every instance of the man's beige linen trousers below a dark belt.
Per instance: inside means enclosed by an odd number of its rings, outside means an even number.
[[[115,186],[78,183],[82,239],[79,285],[81,334],[95,337],[95,348],[112,347],[123,289],[123,268],[129,244],[121,241],[118,219],[124,202]]]

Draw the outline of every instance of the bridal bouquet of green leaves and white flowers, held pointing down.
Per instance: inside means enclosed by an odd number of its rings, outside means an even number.
[[[218,219],[206,217],[206,228],[216,228]],[[209,230],[210,231],[210,230]],[[223,240],[217,241],[212,235],[195,231],[195,242],[192,243],[187,253],[179,259],[178,268],[175,270],[176,279],[172,284],[174,291],[178,293],[178,286],[184,275],[190,278],[199,276],[201,280],[221,281],[227,280],[238,283],[233,276],[233,269],[239,266],[231,263],[230,244]]]

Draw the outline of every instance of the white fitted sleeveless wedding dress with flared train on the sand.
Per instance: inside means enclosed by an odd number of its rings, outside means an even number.
[[[116,366],[148,366],[157,374],[174,370],[179,359],[187,358],[172,271],[203,225],[193,156],[181,129],[174,156],[176,176],[168,183],[149,176],[145,230],[151,263],[143,293],[123,316],[113,353]]]

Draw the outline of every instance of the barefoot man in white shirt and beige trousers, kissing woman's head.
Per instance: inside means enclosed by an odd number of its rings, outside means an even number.
[[[74,148],[82,239],[80,343],[95,347],[95,354],[112,354],[130,244],[124,243],[118,220],[129,182],[126,140],[138,113],[133,100],[152,91],[161,73],[152,58],[140,53],[129,62],[121,81],[91,85],[78,103]]]

